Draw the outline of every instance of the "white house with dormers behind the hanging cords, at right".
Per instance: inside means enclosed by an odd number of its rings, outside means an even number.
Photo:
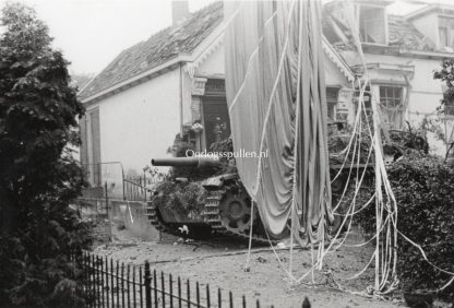
[[[354,8],[371,93],[380,102],[384,121],[399,129],[405,120],[417,125],[423,117],[438,114],[443,91],[433,71],[441,68],[443,59],[454,58],[454,7],[428,4],[398,16],[387,14],[391,3],[359,0],[354,1]],[[361,59],[353,47],[344,5],[344,1],[324,5],[323,33],[348,67],[361,74]],[[442,127],[450,126],[449,117],[447,122],[445,116],[441,119]]]

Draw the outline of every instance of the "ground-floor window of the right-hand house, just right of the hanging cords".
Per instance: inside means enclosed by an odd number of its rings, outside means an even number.
[[[401,128],[404,119],[403,88],[399,86],[380,86],[380,108],[382,119],[390,128]]]

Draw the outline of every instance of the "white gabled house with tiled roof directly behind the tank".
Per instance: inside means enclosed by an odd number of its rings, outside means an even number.
[[[192,14],[187,2],[172,5],[171,26],[123,50],[80,93],[86,107],[81,161],[89,166],[93,185],[118,177],[109,162],[121,162],[126,174],[140,174],[152,157],[169,155],[175,142],[203,150],[215,141],[216,127],[224,128],[224,137],[230,134],[223,3]],[[339,93],[350,86],[354,75],[327,40],[323,49],[334,119],[343,110],[337,103],[348,100],[349,92]]]

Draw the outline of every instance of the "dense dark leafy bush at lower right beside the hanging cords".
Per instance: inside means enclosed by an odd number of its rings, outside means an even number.
[[[398,229],[419,244],[437,266],[454,272],[454,169],[433,157],[405,156],[389,167],[398,209]],[[373,234],[374,206],[359,215]],[[437,289],[451,276],[433,269],[420,251],[398,238],[398,274],[406,289]],[[453,298],[454,285],[443,292]]]

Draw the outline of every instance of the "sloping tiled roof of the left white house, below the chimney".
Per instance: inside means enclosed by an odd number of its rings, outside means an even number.
[[[222,23],[223,16],[223,3],[214,2],[192,13],[178,27],[167,27],[121,51],[81,91],[80,98],[96,95],[179,55],[190,55]]]

